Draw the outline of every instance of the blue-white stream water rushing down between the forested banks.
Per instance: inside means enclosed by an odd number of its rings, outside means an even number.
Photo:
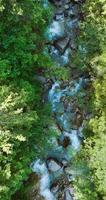
[[[48,41],[54,42],[54,45],[48,46],[51,58],[57,66],[65,67],[69,62],[72,51],[71,45],[74,43],[76,30],[78,29],[79,5],[77,3],[72,4],[68,0],[54,0],[52,2],[55,6],[54,19],[45,35]],[[43,5],[47,7],[48,1],[44,0]],[[73,122],[77,115],[73,101],[81,93],[87,81],[87,79],[79,77],[77,80],[71,80],[63,87],[63,83],[56,80],[48,92],[48,101],[52,107],[51,112],[54,113],[61,135],[54,149],[50,152],[48,150],[47,159],[45,161],[40,159],[35,161],[32,167],[33,171],[40,176],[40,195],[45,200],[59,199],[59,185],[57,184],[53,188],[53,183],[56,181],[58,183],[58,180],[61,180],[61,177],[65,174],[64,168],[80,150],[83,122],[80,126]],[[68,177],[67,174],[65,176]],[[70,179],[68,179],[68,182],[70,185]],[[62,191],[61,200],[75,199],[72,188],[69,188],[69,185]]]

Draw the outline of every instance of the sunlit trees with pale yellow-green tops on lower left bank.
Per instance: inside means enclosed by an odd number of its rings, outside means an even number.
[[[21,83],[21,87],[0,88],[0,195],[5,200],[27,177],[31,159],[44,150],[48,123],[52,122],[48,106],[43,109],[37,105],[34,87],[26,81]]]

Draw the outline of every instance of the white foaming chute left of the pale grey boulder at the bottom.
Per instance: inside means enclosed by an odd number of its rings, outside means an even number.
[[[45,200],[56,200],[50,191],[50,176],[45,163],[38,159],[33,165],[33,171],[40,175],[40,194]]]

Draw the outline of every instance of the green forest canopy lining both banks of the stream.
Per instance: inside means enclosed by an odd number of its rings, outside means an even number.
[[[52,134],[48,129],[52,124],[50,105],[43,104],[44,88],[34,75],[42,72],[65,80],[72,72],[71,67],[59,70],[51,66],[49,55],[44,53],[51,10],[43,7],[41,0],[0,0],[2,200],[11,200],[20,189],[31,173],[31,161],[39,151],[44,153]],[[86,163],[89,175],[87,180],[78,177],[74,187],[78,200],[106,200],[106,0],[85,1],[82,12],[84,20],[77,38],[77,46],[82,48],[74,53],[71,64],[89,75],[93,92],[91,118],[86,122],[82,150],[76,157],[76,162]]]

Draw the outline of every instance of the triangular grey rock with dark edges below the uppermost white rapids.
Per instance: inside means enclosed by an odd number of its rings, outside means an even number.
[[[64,54],[66,48],[68,47],[69,42],[70,42],[70,38],[65,37],[65,38],[61,38],[55,41],[54,45],[60,51],[61,54]]]

